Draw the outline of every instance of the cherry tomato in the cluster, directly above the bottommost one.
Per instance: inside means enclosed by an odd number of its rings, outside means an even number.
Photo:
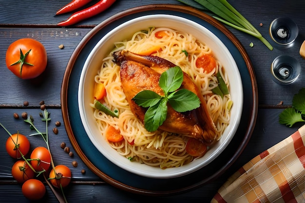
[[[18,183],[34,178],[35,172],[30,168],[25,161],[17,161],[12,166],[12,176]]]

